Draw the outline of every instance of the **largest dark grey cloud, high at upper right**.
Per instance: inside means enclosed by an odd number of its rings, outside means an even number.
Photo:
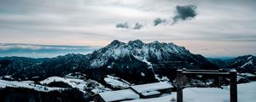
[[[172,25],[176,24],[179,20],[190,20],[197,15],[195,5],[177,6],[176,15],[172,18]]]

